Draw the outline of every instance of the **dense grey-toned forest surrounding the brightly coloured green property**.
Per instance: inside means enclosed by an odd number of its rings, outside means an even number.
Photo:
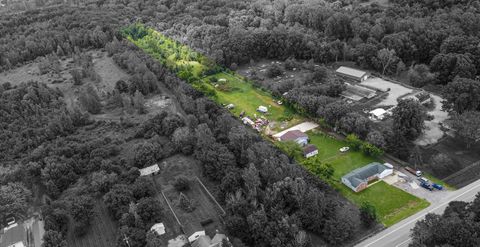
[[[0,218],[25,215],[26,205],[46,194],[41,208],[45,246],[68,246],[69,231],[86,234],[98,201],[130,246],[165,244],[146,234],[167,209],[152,206],[158,205],[155,185],[139,178],[138,169],[175,154],[199,160],[204,176],[218,186],[215,196],[227,211],[224,224],[234,246],[308,246],[304,231],[338,246],[362,228],[360,211],[325,182],[124,41],[120,28],[135,21],[230,69],[265,58],[309,68],[310,78],[301,85],[258,86],[278,96],[289,92],[287,100],[305,114],[400,157],[409,157],[410,141],[422,131],[425,116],[418,105],[402,102],[398,109],[406,110],[395,113],[393,130],[374,131],[368,119],[336,99],[344,88],[313,63],[348,60],[378,74],[406,73],[411,85],[442,92],[459,133],[469,143],[478,139],[472,131],[480,111],[478,1],[392,0],[388,7],[307,0],[73,4],[42,3],[42,8],[0,17],[0,71],[52,56],[52,61],[72,57],[81,68],[72,76],[81,84],[83,77],[95,78],[82,54],[104,49],[130,76],[116,84],[107,100],[100,102],[87,89],[74,107],[64,102],[62,92],[41,83],[0,86],[0,194],[6,198],[0,202]],[[46,64],[47,71],[55,70],[55,63]],[[269,70],[274,76],[275,68]],[[143,97],[163,88],[173,93],[182,112],[159,113],[144,122],[90,116],[127,106],[142,114]],[[133,150],[133,158],[125,150]],[[137,205],[135,212],[131,203]],[[444,216],[427,218],[421,224],[430,227],[419,225],[414,242],[461,246],[441,240],[445,236],[435,234],[432,226],[465,221],[467,226],[458,225],[475,232],[476,218],[470,213],[475,205],[453,205]],[[421,233],[426,229],[431,232]],[[468,242],[470,237],[474,234],[465,235],[463,246],[475,246],[478,240]],[[118,246],[126,246],[121,237]]]

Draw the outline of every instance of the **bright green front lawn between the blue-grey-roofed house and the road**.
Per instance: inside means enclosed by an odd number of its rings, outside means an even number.
[[[334,187],[357,205],[366,201],[370,202],[377,210],[379,221],[387,227],[430,205],[426,200],[390,186],[383,181],[375,183],[358,193],[342,183],[335,183]]]

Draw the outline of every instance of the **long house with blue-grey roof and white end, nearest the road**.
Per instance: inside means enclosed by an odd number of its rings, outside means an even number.
[[[368,187],[368,183],[375,179],[382,179],[393,174],[389,165],[378,162],[360,167],[342,177],[342,183],[355,192],[360,192]]]

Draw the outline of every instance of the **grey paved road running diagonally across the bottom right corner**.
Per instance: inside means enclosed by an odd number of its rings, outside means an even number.
[[[357,244],[356,247],[406,247],[411,241],[410,230],[417,221],[422,220],[429,213],[443,213],[451,201],[471,202],[478,192],[480,192],[480,180],[452,192],[442,202],[430,205],[428,208]]]

